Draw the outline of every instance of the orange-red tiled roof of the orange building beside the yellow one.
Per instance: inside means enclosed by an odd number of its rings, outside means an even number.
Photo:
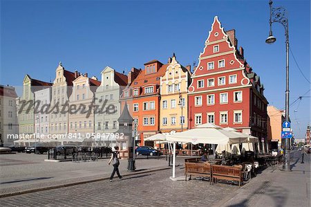
[[[163,76],[167,71],[167,66],[169,66],[169,64],[162,65],[158,70],[158,72],[156,73],[146,74],[145,70],[140,71],[135,80],[131,82],[130,87],[134,88],[134,87],[144,87],[145,85],[149,84],[160,84],[160,77]],[[145,80],[147,80],[147,82],[145,82]]]

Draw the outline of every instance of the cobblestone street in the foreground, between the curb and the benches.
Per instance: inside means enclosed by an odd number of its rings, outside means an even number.
[[[176,174],[182,175],[183,168]],[[171,170],[0,199],[2,206],[210,206],[238,186],[192,179],[171,181]]]

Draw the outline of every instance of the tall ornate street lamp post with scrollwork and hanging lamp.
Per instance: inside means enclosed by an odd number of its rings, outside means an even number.
[[[286,44],[286,91],[285,91],[285,120],[287,122],[290,121],[290,66],[289,66],[289,48],[290,48],[290,42],[288,37],[288,17],[287,12],[285,8],[278,7],[278,8],[272,8],[272,0],[269,1],[270,6],[270,33],[269,37],[265,40],[267,44],[272,44],[276,41],[276,37],[272,35],[272,24],[274,22],[279,22],[282,24],[285,28],[285,44]],[[283,163],[283,170],[284,171],[291,171],[290,170],[290,139],[289,138],[283,138],[284,140],[284,158],[285,161]]]

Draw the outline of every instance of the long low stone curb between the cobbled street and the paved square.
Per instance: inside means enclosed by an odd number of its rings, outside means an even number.
[[[165,168],[156,168],[156,169],[151,169],[151,170],[142,170],[141,172],[133,172],[133,173],[127,173],[127,174],[123,174],[122,177],[130,177],[132,175],[135,174],[144,174],[147,172],[156,172],[156,171],[160,171],[160,170],[168,170],[171,169],[171,167],[165,167]],[[64,188],[64,187],[69,187],[69,186],[77,186],[77,185],[81,185],[81,184],[85,184],[85,183],[93,183],[93,182],[97,182],[97,181],[105,181],[110,179],[110,177],[103,177],[103,178],[98,178],[98,179],[90,179],[90,180],[86,180],[86,181],[79,181],[79,182],[75,182],[75,183],[66,183],[66,184],[62,184],[62,185],[57,185],[57,186],[48,186],[48,187],[43,187],[43,188],[36,188],[36,189],[31,189],[31,190],[23,190],[20,192],[10,192],[10,193],[5,193],[0,195],[0,198],[3,197],[12,197],[15,195],[23,195],[23,194],[27,194],[30,192],[39,192],[39,191],[44,191],[44,190],[53,190],[53,189],[57,189],[57,188]]]

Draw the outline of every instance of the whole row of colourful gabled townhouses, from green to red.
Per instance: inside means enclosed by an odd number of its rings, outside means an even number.
[[[191,69],[173,54],[167,62],[151,60],[142,69],[133,67],[128,74],[106,66],[101,80],[88,73],[68,71],[62,63],[57,66],[53,83],[26,75],[19,102],[40,100],[37,109],[46,104],[50,109],[66,110],[35,113],[35,107],[27,111],[18,104],[19,134],[80,133],[88,138],[86,134],[90,133],[115,133],[126,103],[137,123],[139,145],[153,134],[214,123],[258,137],[264,150],[269,142],[268,102],[261,78],[246,61],[243,47],[238,47],[235,30],[225,31],[215,17],[198,59],[198,66]],[[93,110],[88,116],[68,112],[78,105]],[[66,143],[68,138],[64,140]],[[117,144],[113,136],[97,138],[93,144],[96,142]]]

